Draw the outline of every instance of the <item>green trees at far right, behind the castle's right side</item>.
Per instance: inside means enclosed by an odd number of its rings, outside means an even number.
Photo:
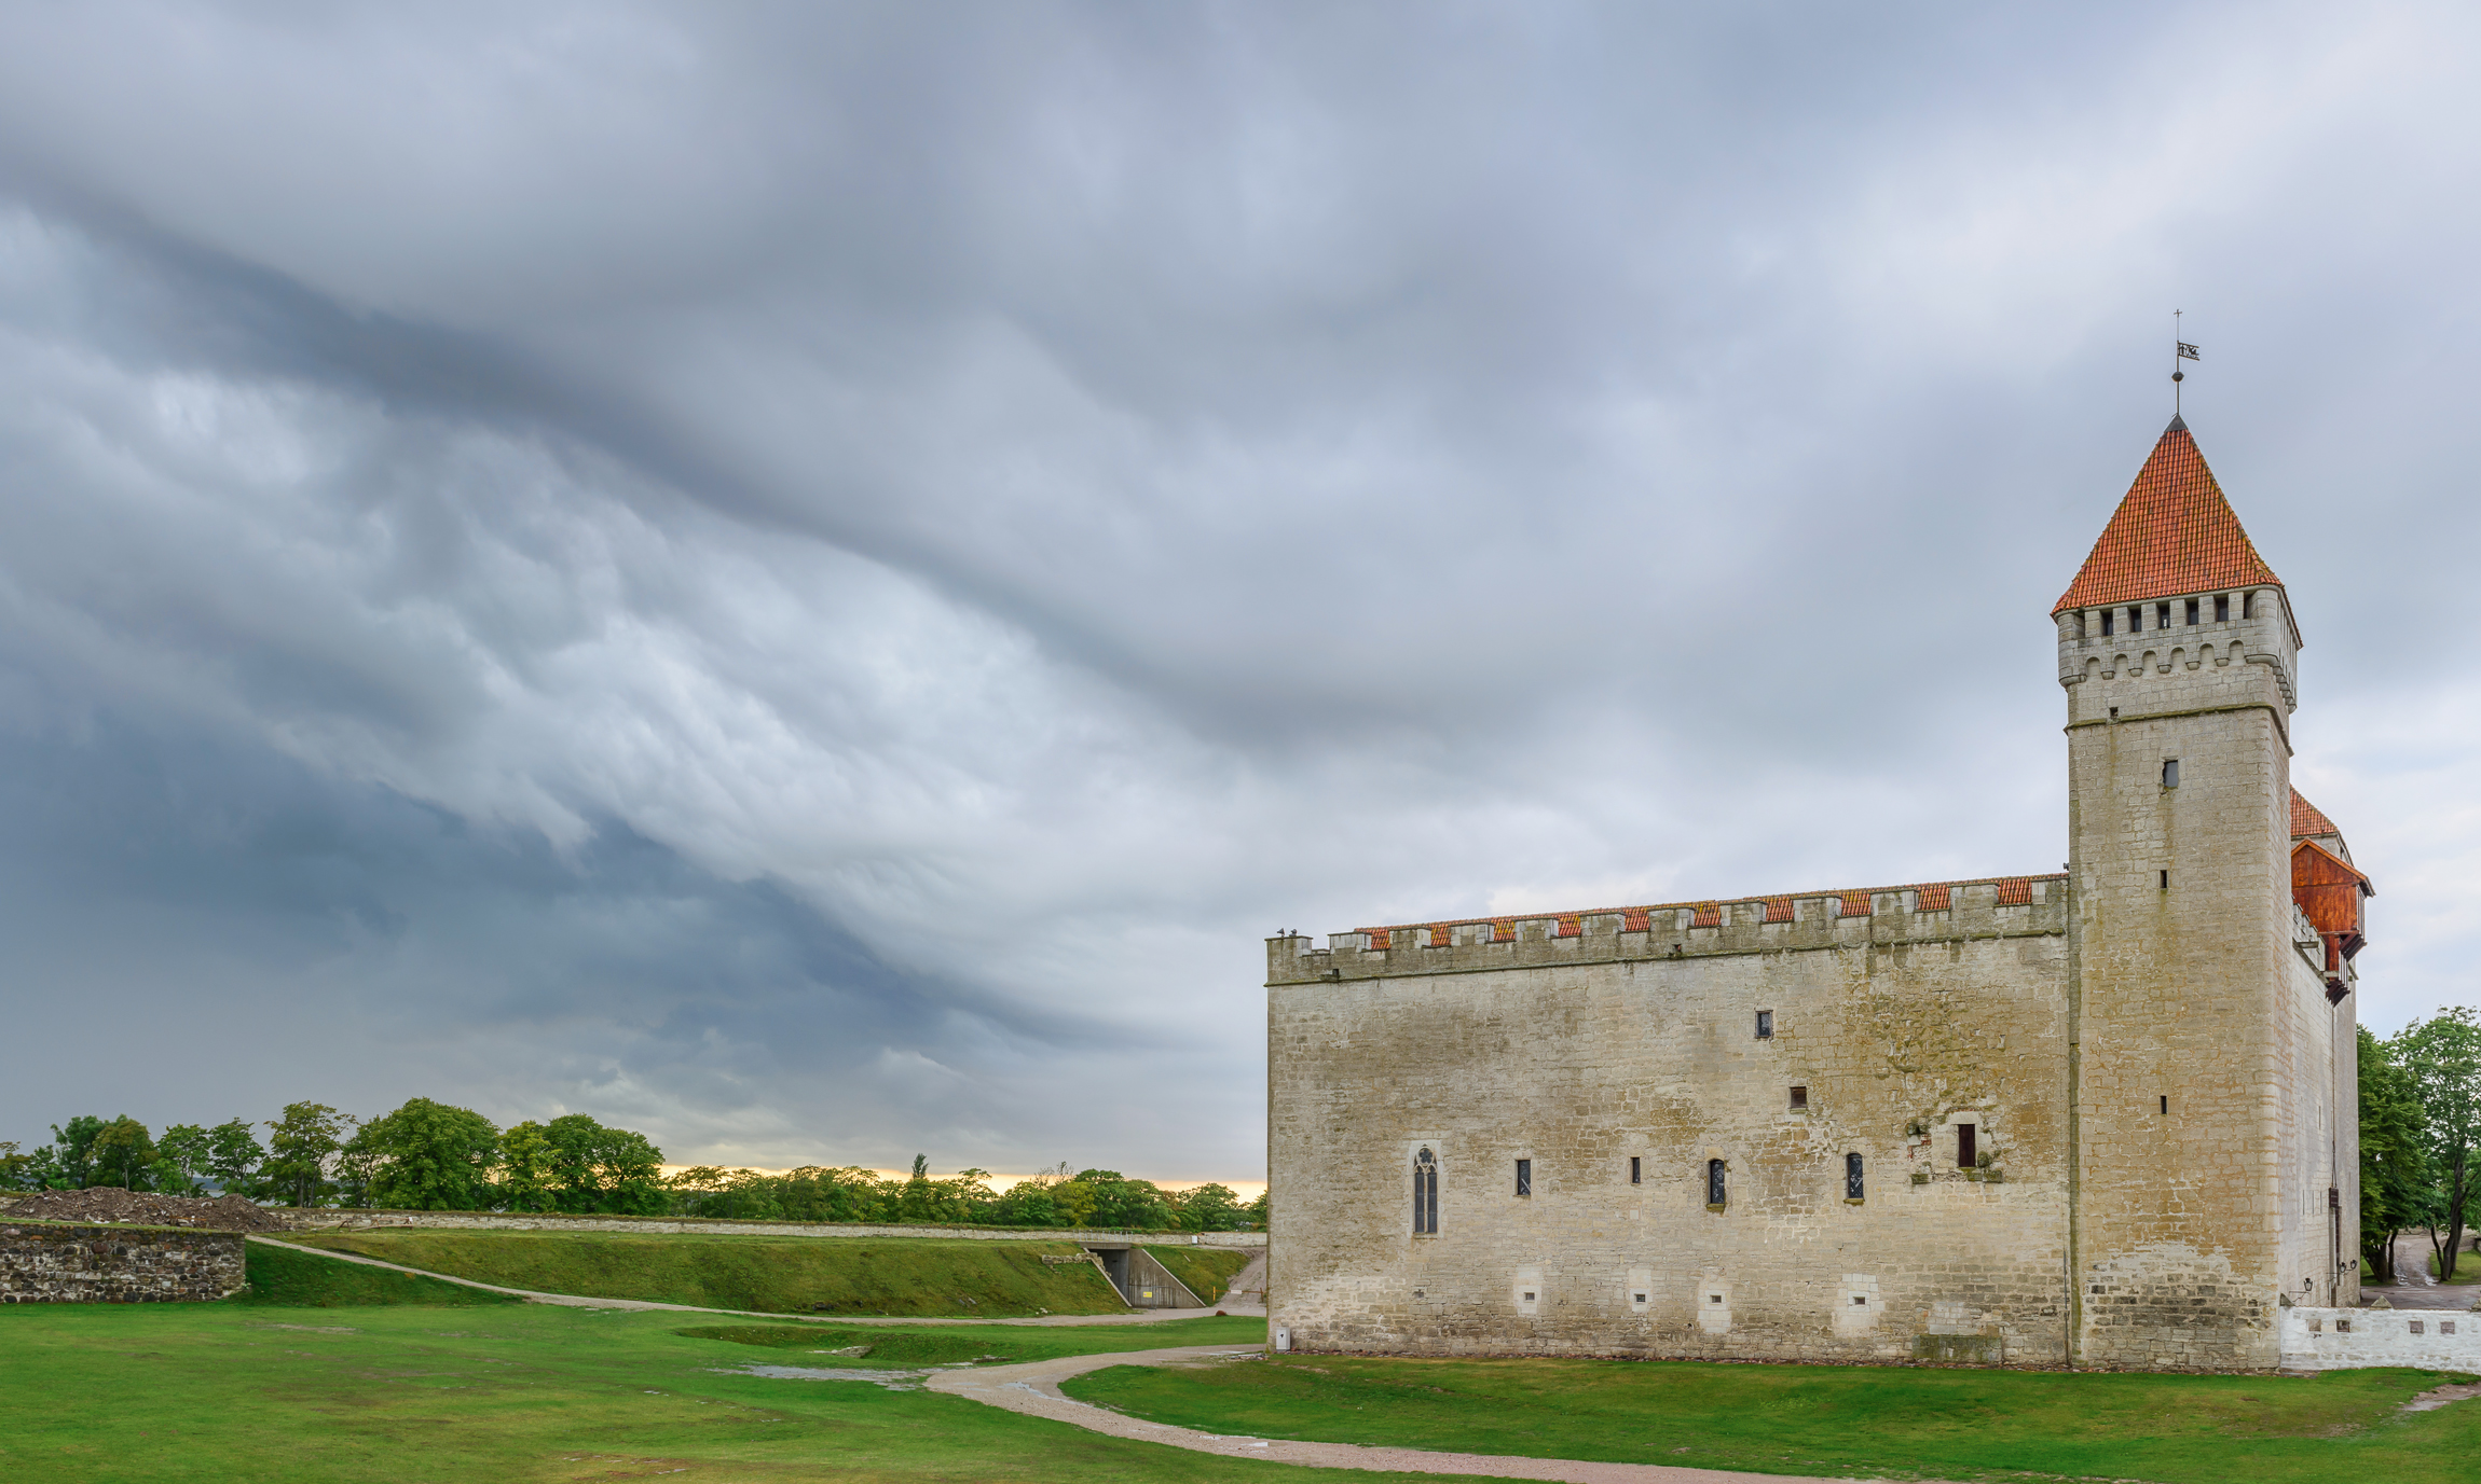
[[[2481,1018],[2439,1011],[2379,1041],[2359,1028],[2359,1256],[2394,1281],[2394,1234],[2424,1231],[2456,1276],[2481,1179]],[[2461,1254],[2474,1261],[2474,1254]]]

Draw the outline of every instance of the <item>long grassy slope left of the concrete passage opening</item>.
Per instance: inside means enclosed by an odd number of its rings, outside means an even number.
[[[1079,1256],[1074,1241],[424,1229],[298,1241],[504,1288],[759,1313],[1126,1313],[1094,1264],[1042,1261]]]

